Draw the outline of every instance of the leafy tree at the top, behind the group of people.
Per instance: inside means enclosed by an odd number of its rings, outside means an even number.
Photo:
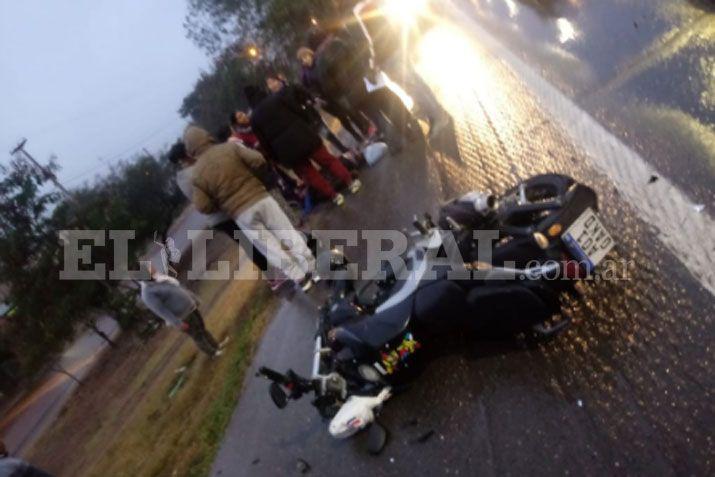
[[[214,57],[179,110],[209,131],[227,125],[228,115],[247,107],[243,88],[262,86],[263,68],[297,77],[295,52],[305,44],[312,20],[328,30],[339,26],[351,8],[344,0],[188,0],[187,36]],[[260,60],[247,58],[257,45]]]

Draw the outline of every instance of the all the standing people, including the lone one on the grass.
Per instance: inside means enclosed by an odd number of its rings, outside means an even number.
[[[300,84],[267,71],[265,88],[244,89],[251,109],[231,113],[229,137],[216,138],[191,125],[169,154],[179,166],[179,188],[214,230],[244,247],[274,289],[292,282],[307,292],[320,280],[314,254],[296,230],[299,219],[291,217],[287,191],[308,189],[342,206],[345,193],[362,187],[357,171],[365,146],[381,141],[396,153],[422,136],[415,116],[387,86],[388,75],[411,95],[430,127],[430,139],[450,121],[402,55],[401,35],[380,15],[379,2],[360,2],[354,14],[356,21],[339,29],[310,32],[296,53]],[[340,122],[357,147],[349,148],[327,127],[321,110]],[[197,301],[176,280],[152,273],[142,283],[142,298],[167,323],[193,330],[207,354],[220,354]],[[181,306],[170,305],[172,300]]]

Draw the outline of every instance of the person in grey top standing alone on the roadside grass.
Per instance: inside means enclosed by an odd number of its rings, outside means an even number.
[[[223,353],[211,333],[206,329],[199,312],[199,300],[175,278],[163,275],[153,268],[151,278],[139,282],[141,298],[146,307],[164,320],[168,326],[188,334],[196,346],[211,357]]]

